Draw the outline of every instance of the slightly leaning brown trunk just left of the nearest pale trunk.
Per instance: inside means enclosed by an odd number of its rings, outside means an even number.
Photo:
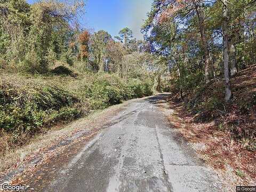
[[[209,78],[210,55],[209,55],[209,50],[207,47],[208,45],[207,45],[207,40],[206,40],[206,35],[205,35],[204,12],[201,10],[200,5],[196,5],[196,14],[198,17],[198,25],[199,25],[201,41],[202,41],[202,46],[203,46],[203,51],[204,51],[204,75],[205,75],[205,83],[207,84],[210,82],[210,78]]]

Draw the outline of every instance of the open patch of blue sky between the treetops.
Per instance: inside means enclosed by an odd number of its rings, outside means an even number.
[[[34,3],[36,0],[27,0]],[[87,0],[85,13],[79,19],[81,26],[90,30],[106,30],[111,36],[129,27],[133,36],[142,39],[140,28],[152,0]]]

